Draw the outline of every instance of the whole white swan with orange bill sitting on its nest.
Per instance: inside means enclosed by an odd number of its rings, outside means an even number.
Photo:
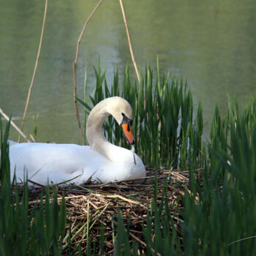
[[[121,97],[110,97],[99,102],[89,114],[86,136],[90,146],[54,143],[17,143],[10,146],[11,178],[24,181],[24,174],[38,184],[58,184],[69,181],[83,184],[92,182],[124,181],[146,175],[142,160],[126,148],[108,142],[102,125],[109,115],[121,125],[127,143],[133,144],[132,108]]]

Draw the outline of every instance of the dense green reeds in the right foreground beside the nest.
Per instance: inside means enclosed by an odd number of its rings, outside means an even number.
[[[170,205],[166,189],[148,211],[146,255],[255,255],[256,253],[256,101],[238,110],[229,102],[222,120],[215,109],[208,158],[201,178],[190,178],[192,194],[185,190],[184,206]],[[191,173],[197,170],[189,166]],[[167,181],[165,181],[167,186]],[[197,195],[197,198],[195,197]],[[168,204],[169,203],[169,204]],[[181,214],[178,236],[176,214]],[[120,218],[120,217],[119,217]],[[124,234],[123,227],[118,233]],[[127,238],[125,238],[127,239]],[[125,246],[125,239],[122,239]],[[133,247],[121,251],[130,252]],[[134,255],[136,249],[126,255]]]

